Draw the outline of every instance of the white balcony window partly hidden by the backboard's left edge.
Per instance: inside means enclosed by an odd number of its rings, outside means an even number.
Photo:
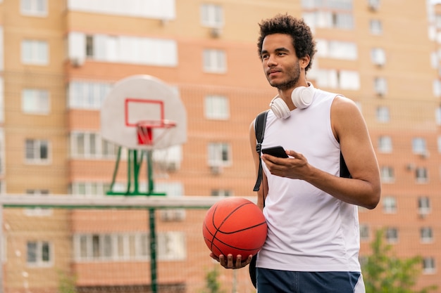
[[[100,110],[112,84],[105,82],[70,82],[68,86],[69,108]]]

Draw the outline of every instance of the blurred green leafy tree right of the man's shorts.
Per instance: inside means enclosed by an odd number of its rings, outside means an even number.
[[[428,293],[437,286],[415,290],[421,273],[421,256],[400,259],[392,252],[392,245],[383,241],[383,230],[375,233],[372,254],[362,267],[366,293]]]

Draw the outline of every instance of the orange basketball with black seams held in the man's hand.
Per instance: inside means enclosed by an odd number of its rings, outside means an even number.
[[[202,233],[216,256],[238,254],[242,260],[259,252],[266,240],[266,220],[259,207],[242,197],[228,197],[207,211]]]

